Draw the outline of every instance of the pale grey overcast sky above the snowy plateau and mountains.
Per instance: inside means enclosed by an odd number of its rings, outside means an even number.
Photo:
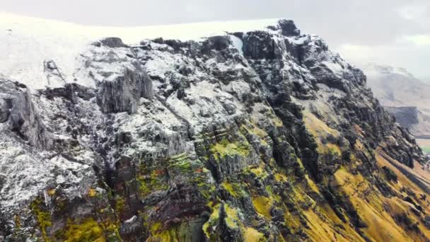
[[[429,0],[1,0],[0,11],[109,26],[291,18],[353,64],[405,67],[430,80]]]

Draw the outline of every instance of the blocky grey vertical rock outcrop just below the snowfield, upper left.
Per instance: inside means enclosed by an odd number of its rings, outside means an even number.
[[[103,113],[136,113],[141,97],[153,97],[152,80],[144,71],[126,69],[124,76],[99,83],[97,101]]]

